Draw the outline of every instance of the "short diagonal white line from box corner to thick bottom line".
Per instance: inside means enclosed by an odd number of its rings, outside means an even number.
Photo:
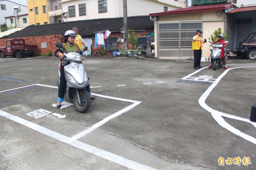
[[[83,132],[77,134],[77,135],[74,135],[72,138],[70,138],[71,140],[77,140],[79,138],[81,138],[82,136],[92,132],[93,130],[95,130],[96,128],[102,126],[103,124],[105,124],[107,121],[111,120],[112,118],[115,118],[119,115],[121,115],[122,113],[124,112],[127,112],[128,110],[134,108],[135,106],[137,106],[138,104],[140,104],[141,102],[136,102],[128,107],[125,107],[124,109],[114,113],[113,115],[110,115],[108,116],[107,118],[103,119],[102,121],[99,121],[98,123],[94,124],[92,127],[88,128],[87,130],[84,130]]]

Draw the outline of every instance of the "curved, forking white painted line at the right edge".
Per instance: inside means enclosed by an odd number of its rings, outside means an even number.
[[[204,92],[203,95],[201,95],[201,97],[199,98],[198,102],[201,105],[201,107],[203,107],[204,109],[206,109],[208,112],[210,112],[212,114],[212,117],[215,119],[215,121],[218,122],[219,125],[221,125],[222,127],[224,127],[225,129],[229,130],[230,132],[246,139],[247,141],[252,142],[253,144],[256,144],[256,138],[253,138],[250,135],[247,135],[243,132],[241,132],[240,130],[237,130],[235,127],[232,127],[230,124],[228,124],[223,117],[227,117],[227,118],[234,118],[236,120],[239,121],[245,121],[248,122],[250,124],[253,124],[253,126],[256,127],[256,123],[255,122],[251,122],[249,119],[246,118],[240,118],[238,116],[234,116],[234,115],[229,115],[227,113],[223,113],[223,112],[219,112],[215,109],[212,109],[211,107],[209,107],[205,101],[207,99],[207,97],[209,96],[210,92],[212,92],[212,90],[215,88],[215,86],[221,81],[221,78],[224,77],[224,75],[227,74],[227,72],[229,72],[232,69],[240,69],[240,68],[248,68],[248,67],[256,67],[256,66],[244,66],[244,67],[235,67],[235,68],[231,68],[231,69],[227,69],[225,70],[217,79],[216,81],[209,86],[209,88]]]

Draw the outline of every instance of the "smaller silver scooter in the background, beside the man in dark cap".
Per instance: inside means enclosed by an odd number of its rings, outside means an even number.
[[[213,49],[211,49],[212,53],[211,53],[211,61],[212,61],[212,69],[213,70],[216,70],[217,69],[217,66],[222,66],[223,63],[221,62],[221,52],[222,50],[220,48],[223,47],[223,44],[220,44],[220,43],[212,43],[211,40],[209,40],[209,42],[212,44],[210,46],[213,47]],[[228,41],[225,41],[224,43],[228,43]],[[225,52],[225,50],[224,50]],[[226,57],[226,52],[224,54],[224,58]]]

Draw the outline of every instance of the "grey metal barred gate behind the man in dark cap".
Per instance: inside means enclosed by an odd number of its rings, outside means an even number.
[[[189,58],[193,56],[192,37],[202,29],[202,22],[158,22],[159,58]]]

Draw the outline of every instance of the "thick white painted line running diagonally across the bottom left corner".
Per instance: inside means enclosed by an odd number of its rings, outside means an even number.
[[[105,151],[105,150],[102,150],[102,149],[99,149],[97,147],[93,147],[89,144],[85,144],[85,143],[82,143],[80,141],[72,141],[70,142],[70,138],[65,136],[65,135],[61,135],[60,133],[57,133],[57,132],[54,132],[52,130],[49,130],[45,127],[42,127],[38,124],[34,124],[30,121],[27,121],[23,118],[20,118],[20,117],[17,117],[15,115],[11,115],[7,112],[4,112],[2,110],[0,110],[0,115],[5,117],[5,118],[8,118],[12,121],[15,121],[19,124],[22,124],[26,127],[29,127],[35,131],[38,131],[39,133],[42,133],[44,135],[47,135],[49,137],[52,137],[54,139],[57,139],[58,141],[61,141],[61,142],[64,142],[66,144],[70,144],[71,146],[73,147],[77,147],[81,150],[84,150],[88,153],[92,153],[96,156],[99,156],[101,158],[104,158],[108,161],[112,161],[116,164],[120,164],[124,167],[127,167],[127,168],[130,168],[132,170],[156,170],[154,169],[153,167],[149,167],[147,165],[144,165],[144,164],[140,164],[139,162],[136,162],[136,161],[132,161],[130,159],[127,159],[127,158],[124,158],[122,156],[118,156],[116,154],[113,154],[111,152],[108,152],[108,151]]]

